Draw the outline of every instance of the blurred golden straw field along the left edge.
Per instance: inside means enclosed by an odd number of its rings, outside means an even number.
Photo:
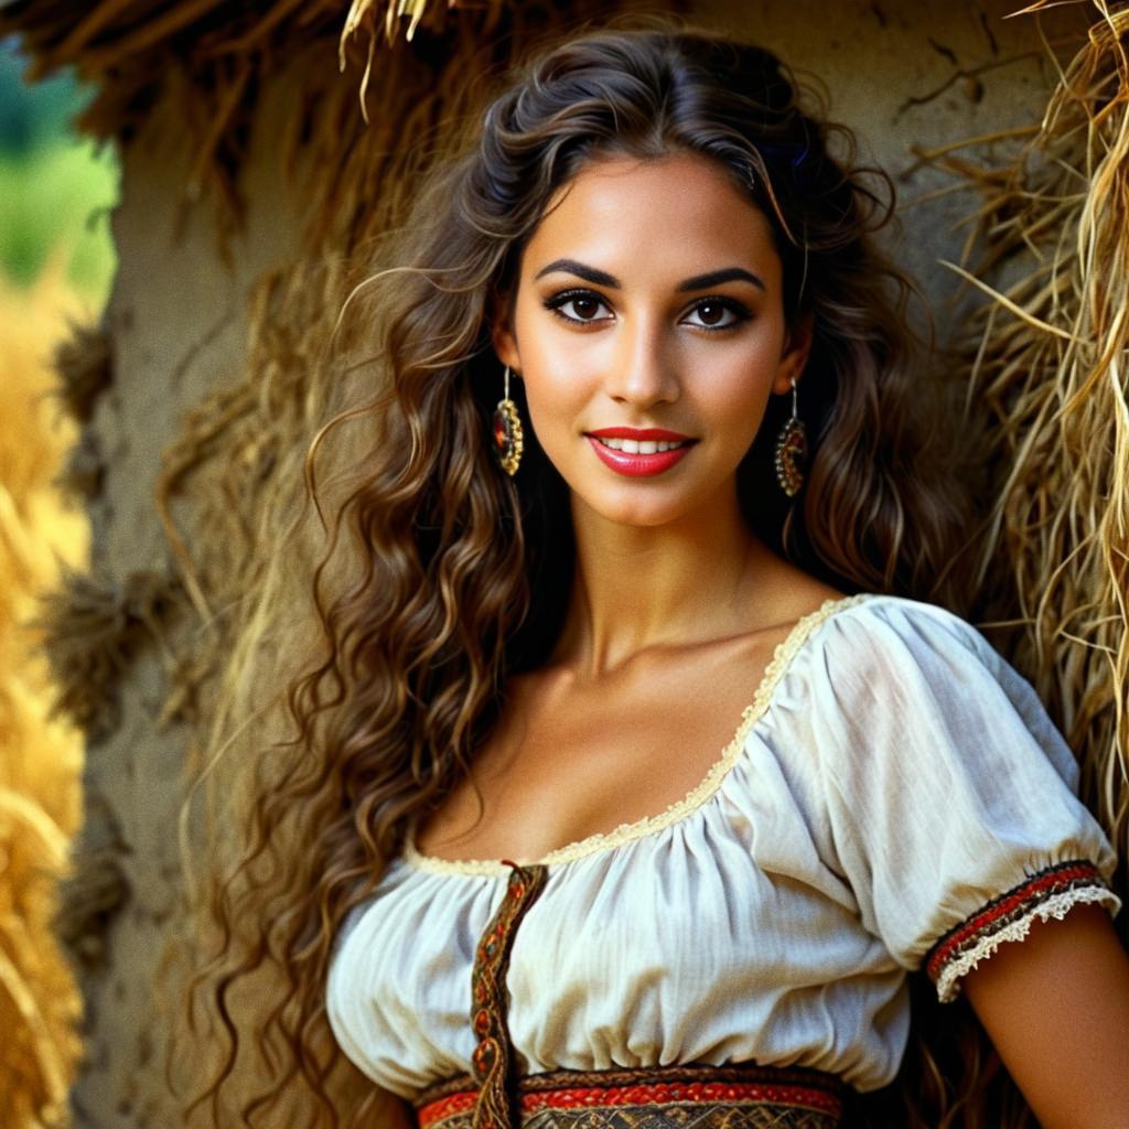
[[[72,427],[42,342],[63,329],[63,264],[29,294],[0,286],[0,1124],[61,1124],[80,1053],[80,1004],[51,930],[81,817],[79,735],[51,717],[30,628],[59,559],[86,555],[86,520],[52,489]]]

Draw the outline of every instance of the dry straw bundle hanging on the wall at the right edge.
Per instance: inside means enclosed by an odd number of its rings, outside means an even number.
[[[1129,8],[1095,6],[1101,19],[1017,156],[943,164],[983,200],[971,272],[954,269],[994,299],[978,314],[964,374],[988,425],[994,502],[977,546],[986,625],[1066,733],[1084,798],[1124,866]]]

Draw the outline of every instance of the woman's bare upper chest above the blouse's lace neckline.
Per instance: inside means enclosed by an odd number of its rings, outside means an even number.
[[[472,771],[417,829],[440,858],[536,859],[664,812],[721,759],[778,640],[729,640],[580,683],[516,680]]]

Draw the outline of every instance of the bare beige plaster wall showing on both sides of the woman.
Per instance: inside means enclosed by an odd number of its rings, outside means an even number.
[[[892,246],[935,300],[942,336],[957,315],[945,306],[952,277],[936,260],[959,255],[953,225],[969,201],[913,205],[945,182],[930,169],[902,174],[912,165],[912,145],[940,146],[1040,117],[1051,71],[1035,21],[1003,20],[1008,7],[970,0],[699,0],[695,7],[701,19],[760,41],[826,81],[833,116],[852,125],[864,151],[898,180],[904,230]],[[1078,7],[1058,10],[1044,28],[1080,27],[1089,11]],[[91,504],[95,559],[119,581],[138,570],[168,570],[154,508],[161,450],[184,413],[239,371],[254,280],[296,254],[303,202],[273,140],[300,80],[279,75],[261,88],[243,172],[250,224],[233,244],[231,268],[218,257],[207,207],[182,207],[191,155],[177,105],[159,106],[122,154],[123,196],[113,221],[121,266],[107,314],[114,384],[91,425],[107,464],[103,493]],[[198,630],[182,623],[172,653],[191,654]],[[85,840],[116,858],[124,900],[107,920],[104,959],[82,971],[88,1061],[73,1109],[84,1129],[173,1123],[151,987],[175,907],[175,805],[187,739],[185,726],[158,725],[169,660],[157,647],[138,657],[121,726],[87,758]]]

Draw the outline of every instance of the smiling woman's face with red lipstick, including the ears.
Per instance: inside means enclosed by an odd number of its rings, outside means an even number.
[[[690,155],[587,165],[526,245],[493,339],[575,500],[641,526],[732,505],[808,347],[785,324],[768,220]]]

